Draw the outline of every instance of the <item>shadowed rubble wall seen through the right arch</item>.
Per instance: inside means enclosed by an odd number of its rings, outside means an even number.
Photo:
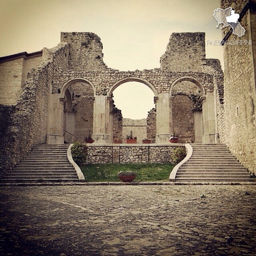
[[[176,95],[172,100],[172,132],[180,138],[180,143],[193,143],[195,140],[194,104],[186,95]]]

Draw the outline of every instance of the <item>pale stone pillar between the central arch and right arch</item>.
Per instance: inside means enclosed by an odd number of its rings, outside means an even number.
[[[171,136],[171,104],[169,93],[160,93],[156,100],[156,143],[168,143]]]

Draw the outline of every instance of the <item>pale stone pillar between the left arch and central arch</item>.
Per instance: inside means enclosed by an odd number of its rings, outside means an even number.
[[[93,97],[93,134],[94,143],[106,144],[109,140],[108,124],[110,104],[107,96],[96,95]]]

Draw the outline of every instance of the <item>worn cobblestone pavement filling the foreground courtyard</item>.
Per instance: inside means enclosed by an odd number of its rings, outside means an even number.
[[[256,255],[255,186],[0,188],[0,255]]]

